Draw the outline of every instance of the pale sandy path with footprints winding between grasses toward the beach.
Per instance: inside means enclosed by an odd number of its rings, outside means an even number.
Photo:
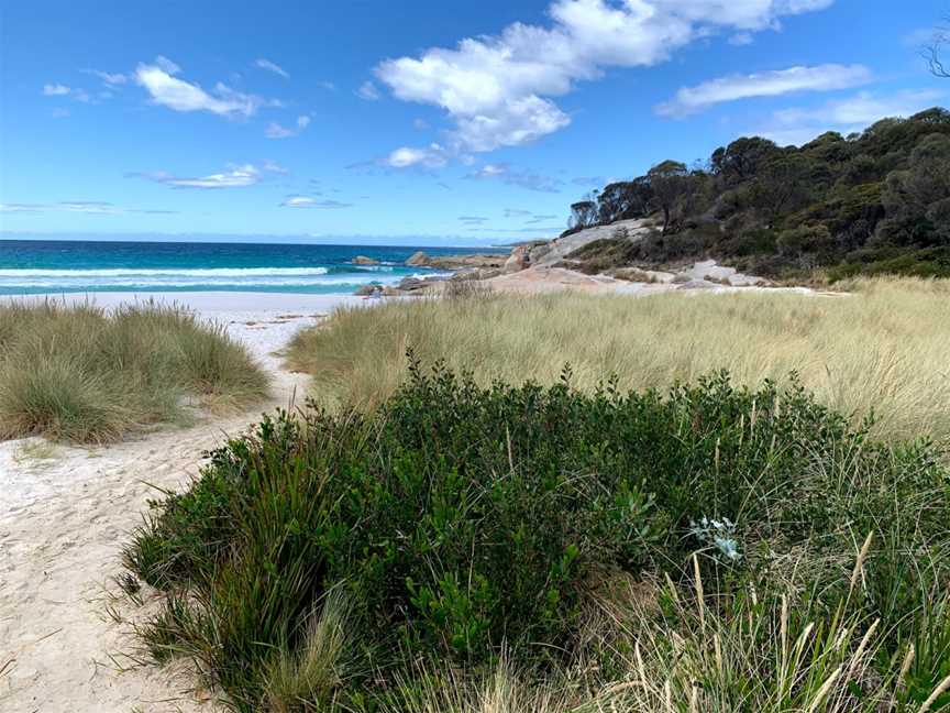
[[[269,306],[269,305],[268,305]],[[203,310],[202,310],[203,311]],[[302,311],[302,310],[301,310]],[[0,443],[0,710],[211,711],[189,690],[187,671],[137,666],[123,617],[142,615],[113,601],[112,579],[128,533],[141,523],[146,484],[177,487],[201,453],[287,405],[303,379],[280,369],[273,351],[316,321],[313,312],[217,312],[274,373],[273,401],[227,420],[167,429],[108,448],[49,447],[40,439]],[[37,457],[38,456],[38,457]],[[147,603],[146,603],[147,606]],[[128,669],[128,670],[126,670]],[[203,701],[203,702],[202,702]]]

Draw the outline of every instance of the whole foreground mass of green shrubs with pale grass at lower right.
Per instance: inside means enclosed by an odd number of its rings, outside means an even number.
[[[153,655],[242,710],[917,710],[950,673],[940,456],[794,381],[417,362],[216,451],[125,559],[167,593]]]

